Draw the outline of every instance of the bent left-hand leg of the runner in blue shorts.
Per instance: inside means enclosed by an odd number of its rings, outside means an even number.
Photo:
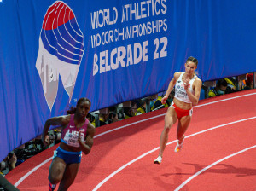
[[[56,184],[61,181],[64,171],[66,168],[66,163],[63,159],[59,157],[55,157],[52,160],[52,163],[49,167],[49,182],[51,184]]]

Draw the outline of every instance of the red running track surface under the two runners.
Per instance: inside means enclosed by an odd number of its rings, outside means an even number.
[[[236,96],[241,97],[223,101]],[[166,109],[97,128],[93,149],[89,155],[83,155],[78,177],[69,190],[93,190],[114,172],[113,177],[104,182],[98,190],[175,190],[208,165],[256,146],[255,100],[256,90],[247,90],[201,101],[199,106],[194,108],[183,150],[174,153],[177,143],[174,142],[177,130],[175,124],[170,130],[169,144],[160,165],[153,164],[158,155],[158,149],[154,148],[159,147]],[[204,105],[207,103],[212,104]],[[239,122],[241,119],[245,120]],[[145,121],[140,122],[141,120]],[[114,130],[127,124],[130,126]],[[208,130],[213,127],[217,128]],[[101,135],[108,130],[114,131]],[[202,130],[207,131],[193,135]],[[56,147],[26,160],[11,171],[6,176],[7,179],[15,184],[28,171],[49,159]],[[149,153],[145,154],[147,152]],[[143,154],[145,156],[142,157]],[[138,157],[140,159],[137,159]],[[134,159],[136,161],[131,162]],[[184,184],[180,190],[255,191],[255,159],[256,148],[236,154],[203,171]],[[20,182],[18,188],[22,191],[47,190],[49,165],[50,162],[38,168]],[[121,171],[117,172],[120,167]]]

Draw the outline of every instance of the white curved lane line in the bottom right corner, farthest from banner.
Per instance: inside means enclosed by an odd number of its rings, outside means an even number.
[[[256,148],[256,145],[250,147],[250,148],[245,148],[237,153],[232,153],[230,154],[229,156],[223,158],[223,159],[219,159],[218,161],[212,163],[211,165],[208,165],[207,167],[205,167],[204,169],[202,169],[201,171],[198,171],[196,172],[192,177],[189,177],[185,182],[183,182],[181,185],[179,185],[174,191],[178,191],[180,190],[180,188],[183,188],[183,186],[185,186],[188,182],[190,182],[193,178],[197,177],[198,175],[200,175],[203,171],[207,171],[207,169],[211,168],[213,165],[217,165],[218,163],[224,161],[225,159],[229,159],[233,156],[236,156],[237,154],[239,153],[243,153],[243,152],[246,152],[247,150],[250,150],[250,149],[253,149],[253,148]]]

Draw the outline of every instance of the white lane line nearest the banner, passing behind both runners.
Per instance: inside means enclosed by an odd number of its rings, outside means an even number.
[[[218,103],[218,102],[221,102],[221,101],[229,101],[229,100],[241,98],[241,97],[244,97],[244,96],[253,96],[253,95],[256,95],[256,93],[251,93],[251,94],[246,94],[246,95],[241,95],[241,96],[235,96],[235,97],[231,97],[231,98],[227,98],[227,99],[219,100],[219,101],[212,101],[212,102],[205,103],[205,104],[201,104],[201,105],[198,105],[198,106],[195,106],[195,107],[207,106],[207,105],[210,105],[210,104],[213,104],[213,103]],[[195,108],[195,107],[194,107],[194,108]],[[113,130],[108,130],[108,131],[106,131],[106,132],[104,132],[104,133],[101,133],[101,134],[99,134],[99,135],[94,136],[94,138],[99,137],[99,136],[106,135],[106,134],[108,134],[108,133],[110,133],[110,132],[113,132],[113,131],[115,131],[115,130],[123,129],[123,128],[128,127],[128,126],[131,126],[131,125],[133,125],[133,124],[138,124],[138,123],[141,123],[141,122],[143,122],[143,121],[147,121],[147,120],[150,120],[150,119],[158,118],[158,117],[161,117],[161,116],[163,116],[163,115],[166,115],[166,113],[160,114],[160,115],[157,115],[157,116],[154,116],[154,117],[152,117],[152,118],[143,119],[143,120],[140,120],[140,121],[131,123],[131,124],[126,124],[126,125],[124,125],[124,126],[120,126],[120,127],[115,128],[115,129],[113,129]],[[52,158],[46,159],[45,161],[49,161],[50,159],[52,159]],[[44,161],[44,162],[45,162],[45,161]],[[43,163],[44,163],[44,162],[43,162]],[[43,163],[39,164],[38,166],[42,166]],[[45,163],[44,163],[44,164],[45,164]],[[34,171],[36,171],[36,170],[38,170],[38,167],[37,167],[37,166],[36,166],[35,168],[33,168],[32,171],[29,171],[29,172],[28,172],[28,173],[30,173],[29,175],[31,175],[32,172],[34,172]],[[27,176],[27,175],[24,175],[23,177],[28,177],[28,176]],[[25,178],[23,178],[23,177],[21,177],[20,180],[22,180],[22,181],[25,180]],[[18,184],[17,184],[17,186],[18,186],[18,185],[22,182],[22,181],[20,181],[20,180],[18,181],[19,183],[16,182],[15,185],[18,183]]]

